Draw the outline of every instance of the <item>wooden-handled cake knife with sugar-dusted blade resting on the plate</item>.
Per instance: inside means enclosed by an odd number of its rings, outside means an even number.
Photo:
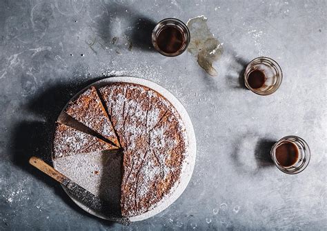
[[[70,195],[81,201],[81,203],[86,205],[91,210],[102,214],[110,221],[115,221],[123,225],[128,225],[130,223],[130,220],[128,218],[121,217],[119,214],[113,213],[108,203],[106,203],[105,201],[101,201],[99,197],[96,197],[94,194],[92,194],[85,188],[81,187],[65,175],[61,174],[61,172],[58,172],[43,160],[37,157],[31,157],[29,162],[35,168],[41,170],[48,176],[61,183],[61,185],[63,185],[67,189]]]

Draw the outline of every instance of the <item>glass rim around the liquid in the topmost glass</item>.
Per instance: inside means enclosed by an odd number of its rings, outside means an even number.
[[[156,42],[156,35],[157,35],[157,30],[159,30],[159,28],[161,26],[164,26],[163,24],[166,21],[173,21],[173,22],[177,22],[180,24],[180,27],[182,29],[184,29],[185,31],[183,31],[183,34],[186,34],[186,45],[184,46],[184,48],[181,48],[181,50],[178,50],[175,53],[166,53],[164,51],[162,51],[158,46],[157,46],[157,42]],[[153,28],[152,30],[152,46],[155,48],[155,50],[157,50],[157,52],[159,52],[160,54],[166,56],[166,57],[176,57],[179,54],[182,54],[186,51],[186,49],[188,48],[188,44],[190,43],[190,30],[188,30],[188,26],[186,26],[186,24],[179,20],[179,19],[175,19],[175,18],[166,18],[166,19],[162,19],[161,21],[159,21],[157,23],[157,25],[155,26],[155,28]]]

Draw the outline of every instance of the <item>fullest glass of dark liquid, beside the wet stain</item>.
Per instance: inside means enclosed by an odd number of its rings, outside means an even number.
[[[183,53],[190,43],[188,27],[178,19],[159,21],[152,31],[152,44],[155,49],[168,57]]]

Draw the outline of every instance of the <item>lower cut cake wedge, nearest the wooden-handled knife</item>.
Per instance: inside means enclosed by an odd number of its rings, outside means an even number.
[[[58,123],[54,132],[53,157],[66,157],[71,154],[116,150],[117,147],[92,137],[68,125]]]

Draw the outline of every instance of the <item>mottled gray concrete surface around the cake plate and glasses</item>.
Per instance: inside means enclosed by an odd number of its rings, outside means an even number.
[[[201,14],[224,43],[218,77],[189,52],[168,58],[148,46],[153,23]],[[239,81],[244,65],[261,55],[284,72],[268,97]],[[0,230],[326,230],[326,61],[324,0],[1,0]],[[129,227],[86,214],[27,162],[32,154],[50,160],[54,120],[72,94],[122,74],[175,94],[198,145],[184,194]],[[268,157],[288,134],[312,152],[297,175]]]

